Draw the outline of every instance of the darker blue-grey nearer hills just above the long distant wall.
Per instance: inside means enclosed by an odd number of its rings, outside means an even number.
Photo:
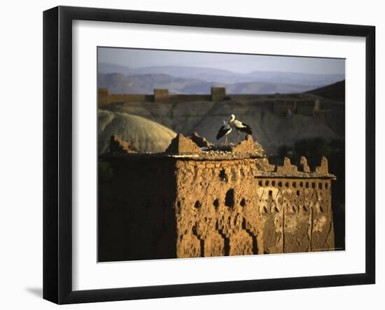
[[[112,94],[153,94],[155,88],[166,88],[176,94],[209,94],[211,87],[226,87],[228,94],[274,94],[306,92],[309,85],[270,82],[217,83],[197,78],[176,78],[167,74],[140,74],[126,76],[123,73],[99,73],[98,87],[109,89]]]

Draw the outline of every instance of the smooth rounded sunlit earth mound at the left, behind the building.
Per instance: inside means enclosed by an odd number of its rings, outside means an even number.
[[[139,152],[163,152],[176,136],[171,129],[137,115],[99,109],[99,154],[109,151],[110,137],[118,134]]]

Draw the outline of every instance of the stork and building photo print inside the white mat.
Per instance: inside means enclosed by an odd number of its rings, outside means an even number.
[[[345,59],[97,48],[98,261],[345,249]]]

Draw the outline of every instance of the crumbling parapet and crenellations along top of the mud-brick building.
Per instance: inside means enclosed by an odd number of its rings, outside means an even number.
[[[332,178],[329,174],[328,160],[322,157],[321,163],[315,169],[310,169],[306,157],[301,157],[300,162],[291,163],[288,157],[283,159],[282,165],[270,164],[262,146],[253,141],[251,135],[237,144],[210,143],[204,137],[194,132],[191,136],[178,134],[169,144],[165,153],[139,153],[120,136],[111,136],[111,153],[104,155],[105,159],[127,158],[132,160],[190,160],[190,161],[215,161],[225,162],[226,165],[243,164],[254,167],[253,174],[261,178]]]

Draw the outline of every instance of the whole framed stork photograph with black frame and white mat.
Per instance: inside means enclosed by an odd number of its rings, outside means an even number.
[[[43,15],[43,297],[375,281],[372,26]]]

